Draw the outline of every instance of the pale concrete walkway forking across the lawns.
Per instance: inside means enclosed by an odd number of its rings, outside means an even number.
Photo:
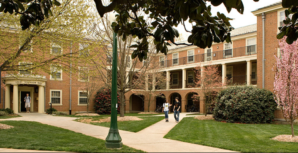
[[[179,120],[182,120],[186,114],[180,113]],[[83,133],[88,136],[96,137],[102,140],[106,139],[109,133],[109,128],[96,126],[81,122],[73,121],[76,118],[62,117],[62,116],[50,116],[41,113],[19,113],[22,117],[2,120],[23,120],[23,121],[36,121],[43,124],[61,127],[74,132]],[[164,115],[160,115],[164,116]],[[150,116],[149,116],[150,117]],[[186,116],[189,117],[189,116]],[[173,114],[169,114],[169,122],[162,120],[149,126],[137,133],[119,130],[122,142],[124,145],[131,148],[140,149],[147,152],[235,152],[230,150],[224,150],[219,148],[213,148],[198,144],[191,144],[181,141],[175,141],[163,138],[177,123],[174,121]],[[0,148],[0,152],[15,152],[16,149]],[[17,152],[23,152],[18,150]],[[31,152],[31,151],[29,151]],[[41,151],[50,152],[50,151]]]

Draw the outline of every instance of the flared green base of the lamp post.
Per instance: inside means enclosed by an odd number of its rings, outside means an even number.
[[[105,146],[106,148],[111,148],[111,149],[120,149],[122,148],[122,139],[120,137],[118,129],[110,129],[109,134],[106,137],[106,143]]]

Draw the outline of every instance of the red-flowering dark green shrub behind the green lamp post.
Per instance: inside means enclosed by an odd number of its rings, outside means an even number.
[[[111,114],[111,95],[112,90],[110,88],[101,88],[97,91],[94,99],[94,110],[97,114]],[[120,97],[119,92],[117,92],[117,112],[120,113]]]

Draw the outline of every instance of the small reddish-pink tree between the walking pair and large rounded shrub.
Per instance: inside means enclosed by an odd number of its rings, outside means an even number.
[[[205,116],[207,116],[209,104],[214,99],[212,96],[215,96],[212,93],[214,93],[214,90],[220,90],[224,85],[222,76],[217,65],[197,66],[195,69],[197,81],[195,81],[196,89],[193,92],[200,93],[204,97]],[[194,100],[198,100],[200,95],[194,95]]]

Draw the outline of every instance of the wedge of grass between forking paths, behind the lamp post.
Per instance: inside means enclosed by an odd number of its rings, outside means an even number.
[[[124,131],[130,131],[130,132],[139,132],[140,130],[145,129],[148,126],[151,126],[163,119],[165,119],[165,116],[144,116],[144,117],[138,117],[140,119],[143,119],[141,121],[122,121],[118,122],[118,129],[124,130]],[[102,119],[102,117],[93,118],[92,120],[99,120]],[[75,121],[78,121],[80,119],[76,119]],[[101,123],[90,123],[93,125],[98,126],[105,126],[110,127],[110,122],[101,122]]]

